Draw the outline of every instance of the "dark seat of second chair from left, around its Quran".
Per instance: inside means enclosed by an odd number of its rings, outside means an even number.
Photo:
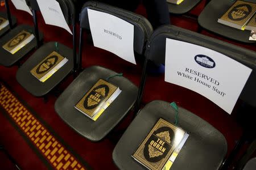
[[[3,45],[6,44],[6,42],[10,41],[18,35],[21,31],[31,31],[34,33],[34,27],[31,27],[30,25],[18,25],[14,29],[12,29],[10,32],[8,32],[5,36],[3,36],[0,39],[0,65],[10,67],[14,65],[17,61],[19,61],[22,57],[24,57],[28,52],[30,52],[32,49],[36,47],[36,39],[34,38],[32,41],[30,41],[27,45],[23,46],[18,52],[15,54],[11,54],[7,52],[7,50],[3,49]],[[34,33],[35,35],[35,33]],[[42,32],[39,32],[39,39],[42,41],[43,34]]]

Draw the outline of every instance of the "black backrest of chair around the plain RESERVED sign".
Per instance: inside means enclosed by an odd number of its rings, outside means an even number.
[[[143,54],[144,44],[149,39],[153,29],[146,18],[121,8],[100,2],[89,1],[82,7],[80,14],[80,28],[90,30],[88,8],[117,16],[134,25],[134,51]]]

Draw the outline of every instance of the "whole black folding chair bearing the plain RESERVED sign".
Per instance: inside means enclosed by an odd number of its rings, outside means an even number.
[[[151,24],[141,15],[123,10],[121,8],[105,5],[98,2],[86,2],[81,11],[80,19],[80,45],[79,45],[79,67],[81,68],[82,58],[82,39],[84,29],[90,30],[88,9],[105,12],[117,16],[126,22],[134,25],[134,52],[143,54],[145,42],[151,35]],[[99,18],[102,21],[104,19]],[[90,66],[84,69],[77,78],[65,89],[55,103],[55,111],[73,130],[80,135],[88,138],[90,141],[100,141],[110,130],[112,130],[119,121],[133,107],[138,93],[138,88],[127,78],[115,76],[109,79],[110,83],[118,86],[122,92],[117,99],[105,109],[104,113],[97,121],[90,120],[84,114],[77,111],[74,106],[84,96],[85,92],[97,82],[98,79],[106,79],[109,76],[116,75],[114,71],[101,66]]]

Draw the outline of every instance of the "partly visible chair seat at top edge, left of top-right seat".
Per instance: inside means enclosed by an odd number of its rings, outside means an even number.
[[[189,1],[184,0],[179,5],[168,3],[169,12],[171,14],[185,14],[188,11],[192,10],[201,0]]]

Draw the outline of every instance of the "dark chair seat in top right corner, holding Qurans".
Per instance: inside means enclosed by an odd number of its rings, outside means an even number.
[[[234,2],[235,1],[230,0],[210,1],[199,15],[198,22],[200,26],[228,39],[246,43],[255,43],[255,41],[249,41],[251,31],[242,31],[217,22],[218,18],[221,18]],[[255,2],[255,0],[248,0],[248,2]]]

